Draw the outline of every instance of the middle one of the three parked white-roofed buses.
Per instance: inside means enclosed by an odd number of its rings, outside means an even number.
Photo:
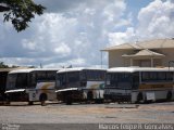
[[[73,102],[103,101],[105,69],[65,68],[57,73],[58,101]]]

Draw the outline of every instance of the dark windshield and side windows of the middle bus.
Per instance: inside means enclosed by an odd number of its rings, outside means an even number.
[[[86,87],[87,81],[104,81],[105,70],[64,72],[57,75],[57,88]]]

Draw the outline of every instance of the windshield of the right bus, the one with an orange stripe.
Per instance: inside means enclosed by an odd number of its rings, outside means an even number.
[[[132,88],[132,74],[129,73],[109,73],[107,74],[107,87],[117,89]]]

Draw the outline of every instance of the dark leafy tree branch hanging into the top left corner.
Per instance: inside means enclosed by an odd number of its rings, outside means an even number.
[[[3,22],[13,24],[17,31],[25,30],[36,14],[41,15],[46,8],[33,0],[1,0],[0,12],[4,12]]]

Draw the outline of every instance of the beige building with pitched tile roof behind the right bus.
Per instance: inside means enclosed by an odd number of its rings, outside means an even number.
[[[124,43],[101,51],[109,53],[109,67],[166,67],[174,61],[174,38]]]

